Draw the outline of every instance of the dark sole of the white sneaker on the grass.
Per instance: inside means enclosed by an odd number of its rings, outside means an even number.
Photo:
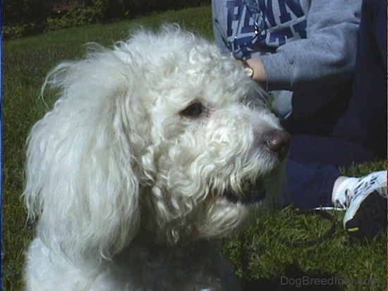
[[[387,231],[387,199],[377,191],[372,192],[361,202],[353,218],[345,223],[345,230],[359,239]]]

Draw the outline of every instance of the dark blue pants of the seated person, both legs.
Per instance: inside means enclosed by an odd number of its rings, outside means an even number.
[[[386,1],[363,1],[351,89],[350,97],[329,102],[320,112],[282,121],[293,135],[286,164],[286,204],[299,209],[332,206],[332,187],[342,175],[338,166],[387,158]],[[305,97],[295,98],[302,101],[301,107]]]

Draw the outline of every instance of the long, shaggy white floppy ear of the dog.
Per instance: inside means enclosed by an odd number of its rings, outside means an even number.
[[[138,230],[134,157],[143,139],[132,120],[144,113],[133,75],[103,51],[62,63],[47,78],[60,97],[30,132],[24,198],[30,217],[40,216],[42,240],[68,256],[112,256]]]

